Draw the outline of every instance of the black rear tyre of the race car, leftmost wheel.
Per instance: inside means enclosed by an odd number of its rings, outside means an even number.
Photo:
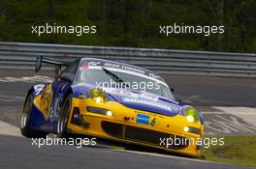
[[[46,138],[48,132],[31,128],[31,110],[33,105],[33,99],[33,93],[30,93],[25,100],[20,122],[20,132],[23,136],[28,138]]]

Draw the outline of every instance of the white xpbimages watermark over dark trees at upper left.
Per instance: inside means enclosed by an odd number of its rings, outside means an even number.
[[[78,37],[83,34],[96,34],[97,27],[95,25],[56,25],[53,24],[44,24],[44,25],[32,25],[31,33],[36,34],[39,37],[43,34],[74,34]]]

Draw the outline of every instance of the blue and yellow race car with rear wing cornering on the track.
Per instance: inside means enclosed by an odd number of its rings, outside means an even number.
[[[84,134],[117,142],[198,156],[204,121],[191,105],[177,101],[157,73],[122,62],[80,58],[55,65],[55,80],[32,86],[20,130],[26,137]],[[64,70],[61,68],[66,67]]]

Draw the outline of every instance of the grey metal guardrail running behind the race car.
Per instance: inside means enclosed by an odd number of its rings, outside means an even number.
[[[2,69],[34,69],[38,55],[67,62],[79,57],[112,59],[160,73],[256,77],[256,54],[0,42]]]

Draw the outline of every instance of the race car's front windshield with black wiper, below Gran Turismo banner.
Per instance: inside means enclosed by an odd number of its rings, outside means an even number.
[[[104,67],[88,69],[86,67],[86,69],[80,69],[78,81],[107,88],[122,88],[138,92],[148,92],[166,99],[175,100],[166,83],[133,71],[113,70]]]

